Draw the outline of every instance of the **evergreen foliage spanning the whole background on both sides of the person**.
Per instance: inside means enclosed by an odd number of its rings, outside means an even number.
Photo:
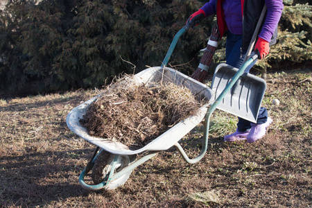
[[[173,37],[206,1],[10,0],[0,11],[0,93],[101,87],[119,73],[159,66]],[[284,1],[279,44],[259,67],[311,60],[311,5]],[[170,65],[189,74],[216,19],[180,38]],[[215,62],[225,60],[225,38]],[[135,66],[135,67],[133,67]]]

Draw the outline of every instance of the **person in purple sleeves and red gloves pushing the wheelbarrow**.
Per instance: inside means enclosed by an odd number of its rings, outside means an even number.
[[[220,37],[227,35],[226,63],[239,68],[243,64],[264,4],[267,7],[266,16],[263,19],[259,35],[257,35],[254,51],[251,54],[254,55],[257,52],[259,58],[262,59],[268,55],[270,45],[276,43],[277,24],[284,8],[282,0],[211,0],[193,13],[187,23],[193,21],[196,26],[205,17],[216,15]],[[254,63],[250,64],[245,72],[249,73]],[[270,123],[272,123],[272,119],[268,117],[268,111],[265,107],[261,107],[257,123],[239,118],[236,132],[226,135],[224,140],[247,140],[252,143],[266,135],[266,128]]]

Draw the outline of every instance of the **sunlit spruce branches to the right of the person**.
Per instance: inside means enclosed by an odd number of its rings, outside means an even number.
[[[279,22],[278,43],[273,45],[265,60],[258,66],[271,67],[271,63],[288,61],[290,63],[312,60],[311,31],[312,6],[308,3],[284,1],[284,10]]]

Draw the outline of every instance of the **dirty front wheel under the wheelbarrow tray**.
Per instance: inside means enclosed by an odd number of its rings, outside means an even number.
[[[99,184],[104,180],[107,180],[108,175],[110,175],[115,156],[116,155],[108,153],[105,150],[102,150],[100,153],[98,153],[92,168],[92,180],[94,184]],[[128,166],[130,162],[134,161],[133,157],[134,156],[132,155],[119,155],[116,161],[114,172],[118,173],[125,166]],[[109,182],[107,185],[105,185],[105,189],[116,189],[117,187],[120,187],[128,180],[131,173],[132,171],[129,171],[128,173],[121,175],[121,177],[117,178],[116,180]]]

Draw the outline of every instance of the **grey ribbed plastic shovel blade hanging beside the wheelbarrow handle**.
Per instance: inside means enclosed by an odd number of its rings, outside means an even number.
[[[238,70],[228,64],[218,64],[211,83],[215,99]],[[224,96],[216,108],[256,123],[265,92],[265,80],[250,73],[243,73],[237,80],[236,87]]]

